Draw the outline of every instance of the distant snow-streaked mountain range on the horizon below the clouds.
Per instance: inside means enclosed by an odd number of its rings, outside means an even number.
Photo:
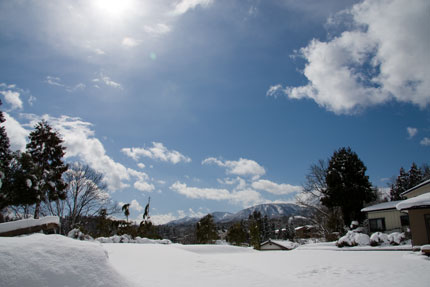
[[[254,211],[260,212],[261,216],[267,215],[269,219],[289,216],[306,216],[309,214],[309,209],[299,206],[294,203],[268,203],[259,204],[246,209],[243,209],[237,213],[230,212],[213,212],[211,213],[215,223],[227,223],[235,222],[248,219]],[[188,225],[195,224],[200,220],[197,217],[184,217],[181,219],[173,220],[166,225]]]

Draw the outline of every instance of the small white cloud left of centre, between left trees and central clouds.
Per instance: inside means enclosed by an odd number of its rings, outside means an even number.
[[[162,143],[153,142],[150,148],[123,148],[121,150],[128,157],[139,160],[141,157],[148,157],[164,162],[177,164],[179,162],[191,162],[191,158],[181,154],[176,150],[168,150]]]

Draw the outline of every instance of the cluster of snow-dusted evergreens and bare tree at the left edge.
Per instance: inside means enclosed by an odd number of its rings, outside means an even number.
[[[44,120],[30,132],[25,151],[12,152],[6,129],[0,126],[0,222],[11,213],[36,219],[55,215],[66,232],[84,219],[118,213],[103,175],[79,162],[66,164],[65,150],[61,135]]]

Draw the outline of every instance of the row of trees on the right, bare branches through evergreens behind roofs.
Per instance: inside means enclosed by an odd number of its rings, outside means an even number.
[[[381,195],[366,175],[366,166],[349,147],[336,150],[329,160],[312,164],[297,202],[313,210],[312,220],[321,236],[335,239],[352,221],[363,223],[364,207],[383,201],[404,199],[401,193],[430,178],[430,168],[415,163],[391,179],[390,194]]]

